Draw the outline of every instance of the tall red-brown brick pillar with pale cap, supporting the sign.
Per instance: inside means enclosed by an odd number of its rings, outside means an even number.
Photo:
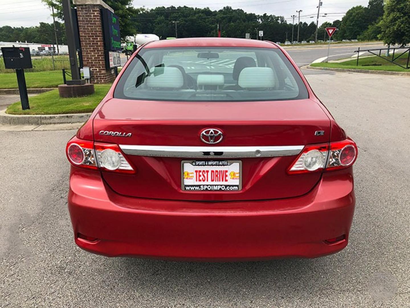
[[[107,83],[115,79],[115,73],[105,68],[103,26],[100,9],[114,10],[101,0],[73,0],[77,7],[84,67],[91,68],[92,83]]]

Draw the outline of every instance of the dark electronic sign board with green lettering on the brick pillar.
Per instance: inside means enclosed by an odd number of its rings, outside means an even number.
[[[120,21],[109,9],[101,9],[103,20],[104,49],[121,50]]]

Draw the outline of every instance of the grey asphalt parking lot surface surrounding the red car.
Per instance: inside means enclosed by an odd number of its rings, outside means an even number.
[[[236,263],[87,253],[66,202],[75,130],[0,131],[0,306],[409,307],[410,78],[304,73],[359,147],[346,249]]]

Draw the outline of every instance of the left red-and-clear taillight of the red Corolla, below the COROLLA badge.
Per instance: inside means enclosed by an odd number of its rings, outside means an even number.
[[[76,167],[104,171],[134,173],[116,144],[94,143],[74,137],[66,147],[68,160]]]

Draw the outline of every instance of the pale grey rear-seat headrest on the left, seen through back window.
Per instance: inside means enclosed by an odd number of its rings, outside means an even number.
[[[147,86],[150,88],[179,89],[183,85],[184,77],[176,67],[156,67],[147,78]]]

